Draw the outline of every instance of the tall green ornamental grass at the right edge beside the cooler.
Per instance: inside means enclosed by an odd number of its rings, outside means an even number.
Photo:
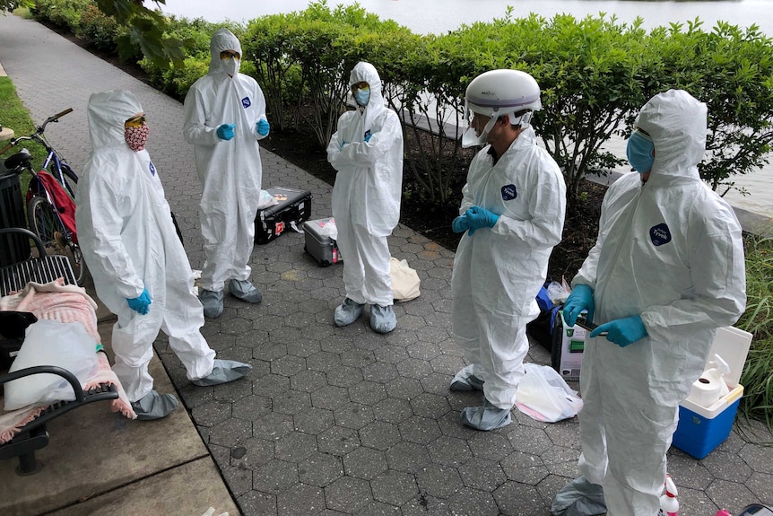
[[[748,235],[746,248],[746,311],[735,324],[754,337],[743,368],[739,407],[747,419],[759,419],[773,432],[773,238]]]

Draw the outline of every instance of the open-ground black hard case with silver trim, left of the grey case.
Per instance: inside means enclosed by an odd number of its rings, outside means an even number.
[[[295,188],[273,187],[266,191],[279,200],[278,205],[257,210],[255,217],[255,243],[265,244],[290,228],[290,223],[308,221],[311,214],[311,192]]]

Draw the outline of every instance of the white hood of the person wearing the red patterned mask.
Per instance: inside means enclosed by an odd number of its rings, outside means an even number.
[[[126,145],[124,122],[142,113],[143,107],[135,94],[126,90],[92,93],[89,97],[89,132],[91,148]]]

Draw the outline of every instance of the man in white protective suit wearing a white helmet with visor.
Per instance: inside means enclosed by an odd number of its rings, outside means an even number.
[[[456,249],[452,289],[453,333],[469,363],[451,390],[482,390],[481,407],[460,419],[479,430],[510,423],[524,358],[526,323],[539,315],[536,295],[561,240],[566,186],[559,166],[537,146],[529,125],[541,109],[534,78],[517,70],[491,70],[467,87],[473,117],[462,145],[488,145],[470,163],[459,216],[464,232]]]

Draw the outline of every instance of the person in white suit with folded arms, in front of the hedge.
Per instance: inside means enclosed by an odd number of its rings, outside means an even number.
[[[334,312],[336,326],[357,320],[370,305],[370,328],[395,329],[389,246],[400,219],[403,189],[403,127],[381,94],[376,68],[360,62],[349,83],[357,109],[338,118],[327,145],[327,161],[337,171],[333,218],[343,256],[346,298]]]

